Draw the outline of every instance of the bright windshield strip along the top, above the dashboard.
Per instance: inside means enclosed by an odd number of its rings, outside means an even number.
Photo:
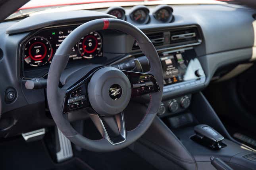
[[[32,13],[69,10],[104,9],[111,6],[161,5],[161,4],[222,4],[232,0],[30,0],[5,20],[23,19]],[[71,7],[72,6],[72,7]]]

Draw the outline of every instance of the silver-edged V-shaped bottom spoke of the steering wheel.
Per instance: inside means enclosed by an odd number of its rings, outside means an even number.
[[[113,116],[101,116],[94,110],[89,111],[92,122],[100,132],[102,138],[106,139],[110,144],[116,145],[125,142],[126,130],[123,111]]]

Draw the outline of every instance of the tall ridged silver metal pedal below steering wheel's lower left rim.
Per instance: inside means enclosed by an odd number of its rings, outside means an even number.
[[[70,140],[62,134],[59,128],[57,129],[56,137],[58,137],[58,140],[56,141],[56,145],[59,151],[56,153],[56,157],[58,162],[62,162],[73,157],[73,150]]]

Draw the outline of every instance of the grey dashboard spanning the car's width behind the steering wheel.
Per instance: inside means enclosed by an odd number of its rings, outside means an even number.
[[[46,79],[60,43],[77,26],[90,20],[117,17],[148,36],[162,63],[164,100],[200,91],[219,68],[256,58],[254,9],[228,4],[139,5],[92,10],[82,7],[70,11],[59,8],[54,15],[38,13],[19,21],[0,23],[2,113],[19,120],[16,129],[24,128],[27,119],[33,119],[35,124],[26,128],[54,124],[45,116],[45,90],[28,90],[25,82]],[[235,20],[233,16],[237,16]],[[100,30],[81,37],[70,49],[67,69],[107,64],[130,70],[134,60],[141,57],[144,54],[131,36]],[[7,101],[10,91],[15,97]]]

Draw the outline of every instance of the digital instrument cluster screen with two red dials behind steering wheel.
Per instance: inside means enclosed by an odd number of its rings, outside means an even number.
[[[54,53],[63,40],[77,26],[47,28],[23,43],[23,66],[34,68],[49,65]],[[70,60],[102,57],[102,37],[98,32],[90,32],[71,49]]]

